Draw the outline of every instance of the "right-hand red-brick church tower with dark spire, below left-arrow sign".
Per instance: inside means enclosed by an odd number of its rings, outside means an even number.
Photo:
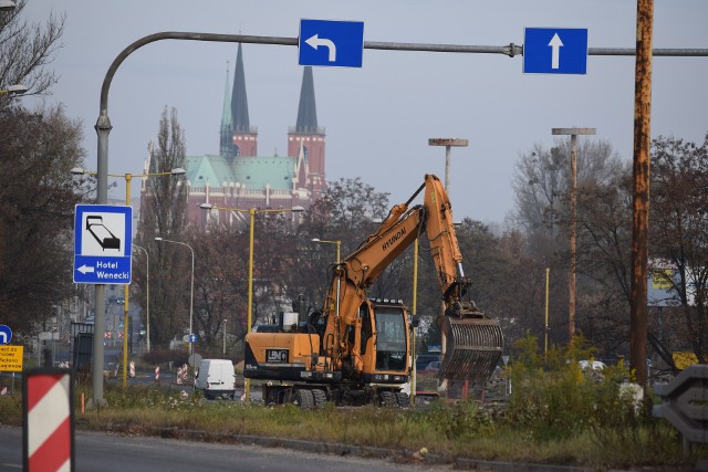
[[[288,156],[304,156],[310,171],[306,187],[315,200],[322,195],[325,186],[324,137],[324,128],[317,126],[312,67],[306,65],[302,73],[298,122],[288,133]]]

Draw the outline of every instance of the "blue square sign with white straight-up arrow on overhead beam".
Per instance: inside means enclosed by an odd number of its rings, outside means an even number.
[[[523,35],[524,74],[585,74],[587,30],[527,28]]]

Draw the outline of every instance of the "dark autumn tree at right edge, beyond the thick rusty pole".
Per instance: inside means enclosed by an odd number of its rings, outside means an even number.
[[[655,324],[650,339],[693,348],[708,360],[708,135],[696,145],[679,138],[653,141],[650,200],[652,260],[674,269],[677,307],[666,310],[664,329]],[[679,335],[670,339],[669,334]],[[666,349],[669,352],[670,349]],[[673,365],[670,359],[669,365]]]

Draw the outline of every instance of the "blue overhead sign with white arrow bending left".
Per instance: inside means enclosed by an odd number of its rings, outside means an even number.
[[[361,21],[300,20],[299,64],[361,67],[364,23]]]

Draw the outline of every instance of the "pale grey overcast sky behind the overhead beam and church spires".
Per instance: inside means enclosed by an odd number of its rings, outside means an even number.
[[[525,28],[582,28],[590,48],[634,48],[636,1],[497,0],[29,0],[24,18],[66,14],[61,75],[48,103],[83,120],[95,170],[103,78],[134,41],[163,31],[296,38],[301,19],[364,22],[365,41],[501,46],[523,44]],[[655,0],[654,48],[708,49],[708,2]],[[142,172],[165,106],[175,107],[189,155],[218,154],[227,61],[233,43],[166,40],[119,66],[108,95],[108,171]],[[298,49],[246,44],[243,61],[259,155],[287,154],[298,113]],[[456,220],[501,222],[513,211],[519,155],[553,146],[553,127],[594,127],[632,159],[634,56],[590,56],[585,75],[523,74],[522,56],[365,50],[363,66],[314,67],[319,125],[326,128],[326,177],[361,177],[391,203],[405,201],[425,174],[445,175],[456,137],[450,198]],[[652,135],[702,143],[708,130],[708,57],[655,57]],[[37,98],[23,98],[28,105]],[[581,138],[585,139],[585,138]],[[582,156],[581,156],[582,158]],[[123,179],[110,197],[124,198]],[[137,196],[137,182],[133,195]]]

